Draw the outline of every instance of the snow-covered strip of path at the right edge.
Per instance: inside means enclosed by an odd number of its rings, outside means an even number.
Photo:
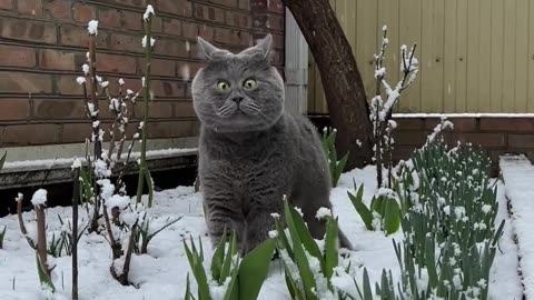
[[[534,166],[524,156],[502,157],[501,170],[505,182],[506,198],[512,206],[511,221],[515,229],[520,256],[520,269],[526,299],[534,299]],[[512,236],[512,233],[510,233]],[[501,244],[502,246],[502,244]],[[512,263],[512,259],[510,261]],[[517,260],[514,262],[515,266]],[[521,299],[521,298],[517,298]]]

